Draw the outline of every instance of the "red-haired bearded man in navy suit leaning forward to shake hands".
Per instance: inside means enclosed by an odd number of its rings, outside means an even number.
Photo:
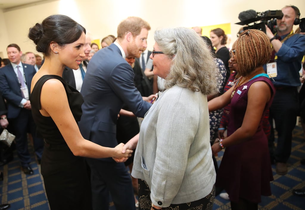
[[[115,147],[117,117],[123,103],[144,117],[153,95],[143,97],[135,88],[134,73],[125,57],[139,58],[147,47],[149,24],[138,17],[122,21],[117,40],[92,57],[84,78],[81,134],[96,144]],[[146,101],[144,101],[145,99]],[[124,163],[113,159],[90,159],[93,209],[109,209],[109,191],[117,210],[135,209],[131,177]]]

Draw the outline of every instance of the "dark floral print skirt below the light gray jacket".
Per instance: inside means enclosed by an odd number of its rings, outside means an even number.
[[[147,183],[138,179],[139,186],[139,210],[150,210],[152,201],[150,200],[150,190]],[[182,204],[171,204],[169,207],[163,207],[162,210],[212,210],[215,199],[215,185],[212,191],[206,197],[197,201]]]

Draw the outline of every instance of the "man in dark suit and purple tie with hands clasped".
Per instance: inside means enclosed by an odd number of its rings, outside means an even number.
[[[20,47],[10,44],[7,48],[10,63],[0,69],[0,91],[7,101],[7,118],[16,135],[16,149],[24,173],[32,174],[31,157],[27,148],[27,131],[30,130],[34,149],[40,162],[43,140],[36,137],[36,126],[31,113],[29,101],[30,87],[34,74],[34,66],[21,63]]]

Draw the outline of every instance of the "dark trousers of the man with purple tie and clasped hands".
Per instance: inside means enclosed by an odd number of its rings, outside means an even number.
[[[30,131],[33,137],[35,154],[41,159],[43,151],[43,139],[36,137],[36,125],[34,123],[31,110],[21,109],[18,117],[9,119],[13,127],[13,133],[16,136],[16,150],[21,166],[28,166],[31,162],[31,156],[27,147],[27,133]]]

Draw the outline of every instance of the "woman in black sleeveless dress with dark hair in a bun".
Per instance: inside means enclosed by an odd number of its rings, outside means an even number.
[[[30,102],[45,148],[41,174],[51,209],[91,209],[91,191],[83,157],[125,159],[124,144],[102,147],[84,139],[78,129],[81,94],[61,77],[65,66],[78,69],[84,58],[84,27],[63,15],[47,17],[30,28],[28,37],[45,54],[45,62],[34,75]]]

